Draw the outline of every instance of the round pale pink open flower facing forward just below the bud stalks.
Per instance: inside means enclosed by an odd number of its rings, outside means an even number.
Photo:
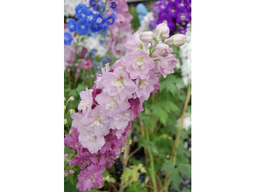
[[[131,79],[145,79],[149,71],[154,68],[154,61],[146,52],[140,51],[125,61],[126,71]]]

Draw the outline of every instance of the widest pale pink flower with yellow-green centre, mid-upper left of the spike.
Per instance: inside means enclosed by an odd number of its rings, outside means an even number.
[[[120,97],[121,101],[132,98],[132,93],[137,90],[136,84],[119,67],[113,72],[103,74],[101,84],[104,93],[114,96],[114,99]]]

